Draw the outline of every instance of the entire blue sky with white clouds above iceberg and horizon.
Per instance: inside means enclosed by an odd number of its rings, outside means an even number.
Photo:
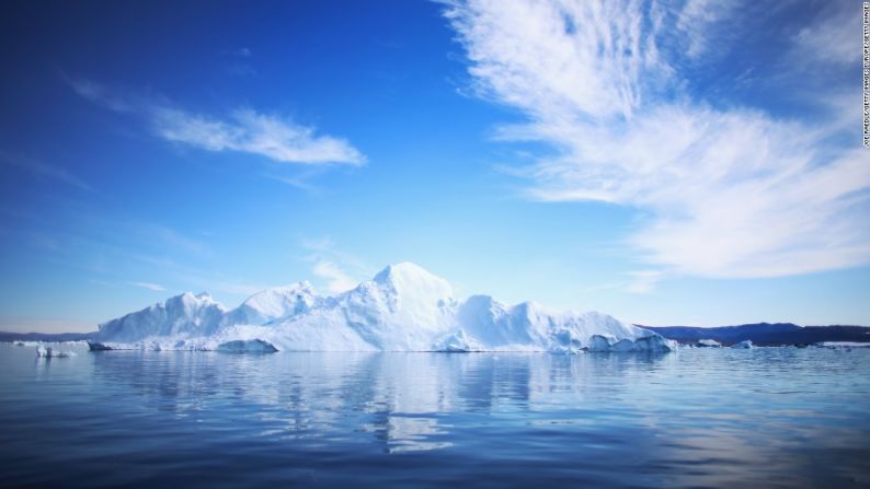
[[[859,13],[3,2],[0,330],[404,260],[643,324],[870,324]]]

